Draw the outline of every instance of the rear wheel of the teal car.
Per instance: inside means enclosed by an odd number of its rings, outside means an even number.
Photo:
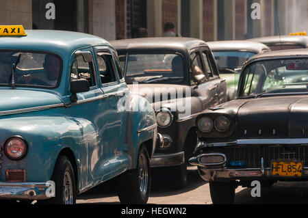
[[[151,169],[149,153],[140,148],[136,169],[131,169],[118,177],[118,198],[121,204],[146,204],[151,189]]]

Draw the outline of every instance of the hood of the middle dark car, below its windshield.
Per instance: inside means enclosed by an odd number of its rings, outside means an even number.
[[[133,94],[138,94],[150,103],[163,100],[172,100],[175,98],[185,98],[190,87],[188,85],[174,84],[129,84],[127,85]],[[190,93],[189,93],[190,94]]]

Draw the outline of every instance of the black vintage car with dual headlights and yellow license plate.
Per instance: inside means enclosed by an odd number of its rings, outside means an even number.
[[[189,162],[209,181],[214,204],[259,180],[308,180],[308,49],[255,55],[244,64],[237,99],[196,118]]]

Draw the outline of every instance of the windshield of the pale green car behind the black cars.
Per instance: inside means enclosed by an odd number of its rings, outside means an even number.
[[[246,51],[214,51],[213,55],[218,69],[231,69],[234,70],[246,62],[250,57],[255,55],[252,52]],[[224,72],[227,73],[227,72]]]

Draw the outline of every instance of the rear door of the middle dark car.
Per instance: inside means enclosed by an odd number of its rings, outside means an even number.
[[[209,77],[209,81],[214,84],[218,103],[227,101],[227,83],[225,79],[221,79],[218,74],[218,68],[215,64],[214,57],[207,47],[201,48],[202,61],[205,68],[205,73]]]

